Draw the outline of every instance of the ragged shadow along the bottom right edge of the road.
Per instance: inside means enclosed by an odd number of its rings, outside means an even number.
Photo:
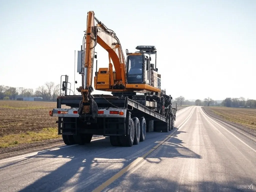
[[[147,176],[145,177],[143,175]],[[117,181],[115,181],[115,184],[111,184],[110,186],[108,186],[105,191],[255,191],[255,186],[253,186],[253,189],[249,189],[248,187],[253,184],[251,178],[240,177],[239,179],[237,179],[239,183],[234,180],[227,180],[226,182],[193,182],[194,177],[193,175],[191,175],[191,177],[184,178],[184,182],[181,182],[179,176],[180,175],[177,175],[177,178],[175,178],[176,175],[162,176],[161,173],[157,176],[155,174],[150,174],[150,172],[143,172],[143,174],[133,173],[127,175],[124,182],[122,182],[122,179],[118,179]]]

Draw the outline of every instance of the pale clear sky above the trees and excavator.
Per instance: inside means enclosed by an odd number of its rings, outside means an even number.
[[[121,2],[0,0],[0,84],[35,89],[67,74],[74,89],[74,51],[92,10],[124,55],[157,48],[161,85],[173,98],[256,99],[256,1]],[[108,67],[107,52],[95,51],[98,67]]]

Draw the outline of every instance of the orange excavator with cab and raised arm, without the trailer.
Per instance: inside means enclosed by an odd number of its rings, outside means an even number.
[[[136,92],[145,95],[161,95],[161,75],[156,68],[155,46],[137,46],[134,53],[126,49],[127,64],[120,41],[113,30],[108,29],[95,16],[93,11],[87,15],[87,30],[83,41],[84,73],[82,73],[82,86],[77,90],[82,93],[83,112],[89,113],[93,96],[92,76],[94,48],[97,44],[103,47],[109,54],[108,68],[99,68],[95,72],[94,88],[96,90],[111,91],[115,96],[129,97]],[[155,55],[155,66],[151,62],[151,55]],[[96,56],[96,57],[95,57]],[[111,60],[113,64],[111,63]],[[113,71],[113,65],[115,71]],[[96,69],[97,70],[97,69]]]

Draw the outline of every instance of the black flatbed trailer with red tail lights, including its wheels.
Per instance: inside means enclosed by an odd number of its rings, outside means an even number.
[[[173,129],[171,118],[160,115],[127,96],[123,98],[112,95],[93,96],[98,105],[96,118],[93,118],[91,114],[79,114],[81,95],[66,95],[57,98],[57,108],[50,111],[50,115],[58,117],[56,121],[58,134],[62,135],[66,144],[89,143],[92,135],[103,135],[110,136],[113,146],[132,146],[134,143],[144,141],[146,132],[168,132]],[[61,108],[61,105],[70,108]],[[81,142],[77,142],[76,137],[80,138],[81,135],[83,135]],[[130,142],[121,144],[121,140],[128,137],[134,137],[134,139],[130,138]]]

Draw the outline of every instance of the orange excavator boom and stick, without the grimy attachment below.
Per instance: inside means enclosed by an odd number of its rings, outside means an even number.
[[[96,25],[94,23],[96,21]],[[116,72],[116,81],[126,83],[126,61],[121,44],[114,31],[108,29],[102,22],[94,17],[94,12],[89,11],[87,16],[85,49],[85,68],[87,68],[86,87],[92,86],[94,47],[99,44],[109,53]]]

